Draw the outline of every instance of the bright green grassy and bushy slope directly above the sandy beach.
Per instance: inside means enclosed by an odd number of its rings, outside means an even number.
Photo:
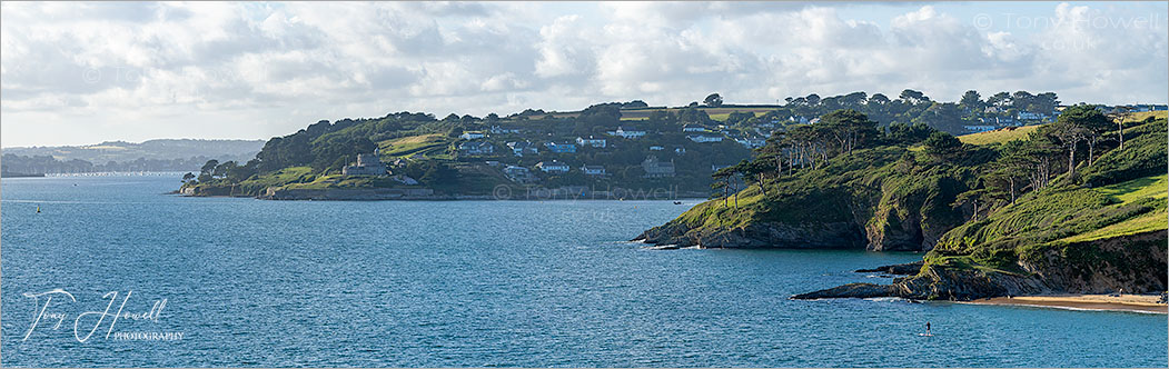
[[[927,264],[961,259],[975,267],[1017,270],[1017,260],[1037,258],[1052,248],[1169,228],[1165,120],[1126,132],[1137,137],[1123,151],[1101,155],[1092,167],[1081,165],[1085,182],[1108,179],[1097,182],[1114,184],[1057,186],[1030,193],[1016,204],[947,232],[927,256]]]

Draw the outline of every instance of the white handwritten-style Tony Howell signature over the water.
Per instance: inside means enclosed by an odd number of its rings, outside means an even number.
[[[119,319],[158,322],[159,316],[162,315],[162,308],[166,307],[166,299],[154,300],[154,305],[151,306],[150,311],[146,312],[138,312],[138,313],[124,312],[126,308],[126,302],[130,301],[131,294],[133,294],[133,291],[126,292],[125,297],[122,299],[122,304],[118,305],[117,312],[111,312],[111,309],[113,308],[113,304],[118,300],[118,292],[111,291],[102,295],[103,300],[104,299],[110,300],[110,302],[105,305],[105,309],[87,311],[77,314],[77,318],[74,319],[74,337],[77,339],[77,342],[84,343],[85,341],[88,341],[94,335],[94,333],[102,327],[102,323],[106,321],[109,321],[109,328],[106,328],[105,330],[105,339],[109,339],[110,334],[113,334],[113,327],[115,325],[118,323]],[[58,302],[65,298],[69,299],[69,301],[67,301],[65,304],[77,302],[77,299],[74,298],[71,293],[61,288],[40,293],[26,292],[25,297],[33,298],[34,306],[37,308],[34,311],[36,316],[33,319],[32,326],[28,327],[28,333],[25,333],[25,339],[21,341],[27,341],[28,337],[33,335],[33,332],[36,330],[36,327],[41,323],[42,319],[48,321],[56,319],[56,323],[53,325],[51,329],[57,330],[58,328],[61,328],[61,323],[65,321],[65,318],[68,318],[69,313],[60,311],[49,311],[49,306],[55,298],[58,300]],[[44,299],[43,304],[41,301],[42,298]],[[84,336],[82,335],[83,333]]]

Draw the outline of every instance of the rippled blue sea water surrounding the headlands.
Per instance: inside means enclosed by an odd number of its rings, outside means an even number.
[[[1164,367],[1165,315],[793,301],[919,258],[650,251],[670,202],[275,202],[4,180],[7,367]],[[36,207],[41,213],[36,213]],[[62,288],[25,340],[44,298]],[[74,323],[84,312],[78,335]],[[125,293],[132,291],[129,299]],[[166,299],[157,320],[147,313]],[[63,322],[56,329],[58,320]],[[935,336],[921,337],[925,321]],[[109,339],[108,332],[112,332]],[[181,333],[141,340],[127,333]],[[122,339],[117,335],[123,334]]]

